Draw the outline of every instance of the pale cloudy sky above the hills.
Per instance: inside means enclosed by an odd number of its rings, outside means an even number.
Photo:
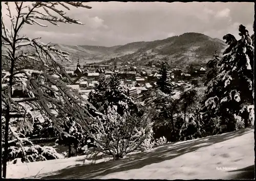
[[[28,3],[30,4],[30,3]],[[92,9],[75,8],[65,10],[71,18],[84,25],[59,23],[59,27],[45,23],[24,25],[22,31],[31,38],[41,37],[45,43],[67,45],[115,46],[136,41],[154,41],[187,32],[202,33],[211,38],[220,38],[227,33],[237,39],[238,27],[245,25],[253,34],[254,3],[240,2],[88,2]],[[10,20],[2,2],[2,16],[7,26]],[[10,5],[16,12],[15,5]],[[41,10],[44,12],[44,10]],[[42,21],[40,21],[43,23]]]

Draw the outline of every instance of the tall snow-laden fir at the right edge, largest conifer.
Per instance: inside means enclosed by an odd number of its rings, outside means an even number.
[[[230,46],[224,51],[215,77],[207,84],[204,111],[206,117],[215,120],[217,134],[236,130],[235,115],[242,117],[245,127],[254,121],[254,45],[242,24],[239,31],[239,41],[231,34],[223,37]]]

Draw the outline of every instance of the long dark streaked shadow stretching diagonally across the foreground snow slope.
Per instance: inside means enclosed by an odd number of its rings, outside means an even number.
[[[169,143],[166,145],[158,146],[154,148],[154,150],[151,150],[148,152],[131,154],[127,156],[127,158],[124,158],[121,160],[90,164],[90,165],[70,166],[62,170],[58,170],[56,172],[38,175],[38,177],[47,178],[47,179],[51,179],[51,178],[90,179],[95,177],[100,178],[101,176],[104,176],[110,173],[127,171],[131,169],[139,169],[146,165],[160,163],[165,160],[171,160],[181,156],[182,154],[196,151],[199,148],[206,147],[215,143],[223,142],[223,141],[232,139],[234,137],[242,136],[246,133],[249,133],[250,131],[251,131],[251,128],[246,128],[246,129],[242,129],[242,130],[238,130],[230,133],[225,133],[225,134],[215,135],[215,136],[208,136],[208,137],[204,137],[196,140]],[[82,162],[83,160],[84,159],[80,159],[77,161]],[[254,172],[254,169],[253,169],[253,172]],[[237,177],[247,178],[248,176],[242,175],[240,173],[240,175]]]

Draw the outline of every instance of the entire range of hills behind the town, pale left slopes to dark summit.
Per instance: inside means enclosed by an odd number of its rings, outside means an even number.
[[[120,57],[122,61],[139,63],[165,59],[169,63],[181,65],[206,63],[209,58],[212,58],[215,50],[223,51],[226,44],[220,39],[210,38],[200,33],[185,33],[164,40],[132,42],[112,47],[63,44],[55,44],[55,47],[68,51],[71,54],[73,65],[76,65],[78,58],[80,64],[83,65],[115,57]],[[30,49],[26,50],[30,51]],[[3,53],[6,51],[5,45],[2,46],[2,51]],[[70,65],[69,62],[63,62],[63,64]]]

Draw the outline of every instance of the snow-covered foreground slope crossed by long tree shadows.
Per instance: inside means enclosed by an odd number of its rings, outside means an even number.
[[[158,146],[125,159],[86,156],[8,165],[8,178],[229,179],[254,173],[254,128]],[[240,170],[242,169],[242,171]],[[233,170],[233,171],[232,171]],[[247,174],[247,177],[245,176]]]

